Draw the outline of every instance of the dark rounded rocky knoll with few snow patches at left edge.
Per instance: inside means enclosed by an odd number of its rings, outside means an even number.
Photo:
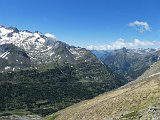
[[[0,45],[0,71],[28,69],[30,63],[30,58],[23,49],[13,44]]]

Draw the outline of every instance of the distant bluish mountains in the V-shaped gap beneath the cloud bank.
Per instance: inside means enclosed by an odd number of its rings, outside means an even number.
[[[95,55],[97,55],[97,53]],[[128,81],[135,80],[143,74],[150,65],[160,60],[158,50],[149,48],[122,48],[113,51],[103,51],[103,55],[98,55],[98,57],[104,64],[108,65],[117,74],[124,76]]]

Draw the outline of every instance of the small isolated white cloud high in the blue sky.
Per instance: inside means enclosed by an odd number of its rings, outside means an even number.
[[[151,28],[147,22],[134,21],[129,23],[128,25],[136,28],[136,30],[138,30],[140,33],[144,33],[145,31],[151,31]]]

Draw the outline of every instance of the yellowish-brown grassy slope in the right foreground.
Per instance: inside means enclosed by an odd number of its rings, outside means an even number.
[[[46,120],[160,119],[160,62],[127,85],[70,106]]]

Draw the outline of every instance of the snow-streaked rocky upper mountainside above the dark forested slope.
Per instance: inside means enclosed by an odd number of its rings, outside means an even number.
[[[39,66],[50,62],[69,62],[83,58],[87,50],[69,46],[57,41],[55,37],[47,37],[42,33],[19,31],[15,27],[0,27],[0,44],[14,44],[26,51],[32,66]]]

